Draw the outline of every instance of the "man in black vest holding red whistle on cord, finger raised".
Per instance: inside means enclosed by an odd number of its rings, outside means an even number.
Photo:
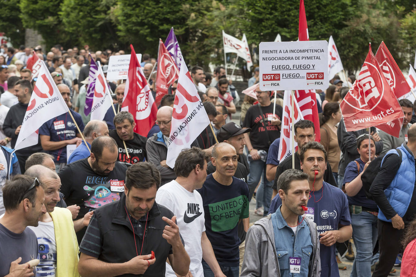
[[[82,276],[165,276],[166,259],[176,274],[188,274],[176,216],[155,202],[160,181],[149,162],[127,169],[120,201],[98,208],[91,218],[80,245]]]

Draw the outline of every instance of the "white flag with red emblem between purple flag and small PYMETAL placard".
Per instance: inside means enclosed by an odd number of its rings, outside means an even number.
[[[98,71],[95,76],[94,98],[92,100],[91,120],[103,120],[107,110],[111,107],[113,98],[111,98],[106,79],[100,62],[97,61]]]

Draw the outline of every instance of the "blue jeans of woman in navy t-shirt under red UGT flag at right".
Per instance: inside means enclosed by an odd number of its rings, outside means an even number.
[[[377,217],[366,211],[353,213],[351,225],[352,239],[357,249],[351,277],[371,276],[373,250],[377,241]]]

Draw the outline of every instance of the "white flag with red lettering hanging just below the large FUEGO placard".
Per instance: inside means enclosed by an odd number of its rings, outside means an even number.
[[[295,107],[293,109],[293,124],[299,120],[303,120],[302,113],[300,112],[299,105],[296,99],[293,99]],[[283,96],[283,119],[282,119],[282,130],[280,131],[280,144],[277,159],[282,162],[287,157],[292,155],[293,137],[295,136],[294,130],[292,130],[292,93],[291,91],[285,91]],[[297,145],[295,145],[297,146]]]

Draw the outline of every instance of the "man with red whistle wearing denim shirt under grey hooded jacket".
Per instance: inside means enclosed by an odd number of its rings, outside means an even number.
[[[280,175],[282,205],[248,230],[241,276],[320,276],[316,224],[302,217],[309,199],[308,179],[297,169]]]

